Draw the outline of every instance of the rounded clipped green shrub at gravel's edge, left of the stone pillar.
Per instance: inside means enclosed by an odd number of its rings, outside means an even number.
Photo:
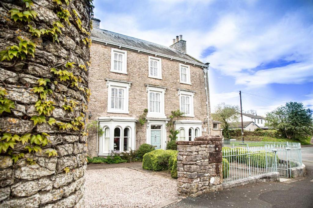
[[[173,154],[177,154],[177,151],[156,149],[148,152],[143,156],[142,168],[152,171],[168,170],[169,158]]]

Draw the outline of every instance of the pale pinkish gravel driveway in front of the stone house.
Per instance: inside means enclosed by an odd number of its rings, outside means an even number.
[[[151,207],[177,196],[177,181],[129,168],[86,171],[85,207]]]

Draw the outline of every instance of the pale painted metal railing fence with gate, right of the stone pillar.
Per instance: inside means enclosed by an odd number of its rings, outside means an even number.
[[[223,141],[223,178],[233,181],[269,172],[292,177],[291,168],[302,164],[296,142]]]

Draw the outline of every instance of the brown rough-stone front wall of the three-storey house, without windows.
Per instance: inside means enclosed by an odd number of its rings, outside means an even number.
[[[93,42],[90,49],[91,66],[89,70],[89,86],[91,89],[91,96],[88,110],[92,114],[91,120],[98,120],[99,117],[110,116],[133,117],[138,119],[138,117],[143,114],[144,109],[148,108],[147,91],[145,86],[146,84],[166,87],[164,104],[165,115],[167,118],[171,115],[171,111],[180,108],[178,89],[195,91],[194,117],[182,117],[181,119],[204,121],[205,118],[207,118],[206,90],[204,80],[205,74],[201,67],[189,65],[191,85],[182,84],[180,83],[179,75],[180,62],[162,58],[162,80],[149,78],[149,55],[122,48],[121,50],[127,51],[127,74],[110,72],[112,47],[116,48],[114,46]],[[106,86],[106,79],[131,82],[129,89],[129,114],[107,112],[108,88]],[[138,148],[141,144],[146,143],[147,141],[146,125],[147,124],[144,126],[136,126],[136,148]],[[203,123],[202,127],[205,128],[205,131],[202,132],[202,134],[208,134],[208,124]],[[168,129],[166,135],[168,136]],[[90,134],[88,138],[88,154],[90,156],[96,155],[96,144],[96,134]]]

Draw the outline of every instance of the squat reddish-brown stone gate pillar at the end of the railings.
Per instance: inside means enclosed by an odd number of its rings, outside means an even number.
[[[195,141],[179,141],[177,150],[177,190],[182,196],[196,197],[223,189],[220,137],[210,135]]]

